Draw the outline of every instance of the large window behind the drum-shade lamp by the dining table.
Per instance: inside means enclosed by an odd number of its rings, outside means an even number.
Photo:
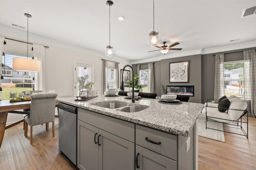
[[[17,92],[17,97],[22,91],[34,88],[34,72],[21,72],[12,70],[13,58],[27,58],[25,56],[4,54],[2,57],[2,100],[10,100],[10,92]],[[32,57],[28,57],[32,59]]]

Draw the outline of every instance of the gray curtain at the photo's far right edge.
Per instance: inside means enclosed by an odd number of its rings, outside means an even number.
[[[248,112],[256,117],[256,52],[244,51],[244,99]]]

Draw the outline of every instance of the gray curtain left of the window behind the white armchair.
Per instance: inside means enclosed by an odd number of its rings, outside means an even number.
[[[224,95],[225,95],[224,54],[216,54],[214,100],[219,100]]]

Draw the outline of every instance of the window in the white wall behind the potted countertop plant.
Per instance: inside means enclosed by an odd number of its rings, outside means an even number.
[[[81,63],[75,63],[75,77],[74,80],[76,80],[78,77],[85,76],[88,74],[88,82],[94,82],[93,80],[93,66],[88,64],[81,64]],[[74,86],[74,95],[78,95],[78,90],[81,90],[82,88],[78,87],[78,84],[75,84]]]

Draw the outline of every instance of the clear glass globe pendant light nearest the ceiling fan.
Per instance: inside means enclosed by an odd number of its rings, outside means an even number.
[[[148,45],[155,47],[161,42],[161,38],[158,31],[155,31],[155,5],[153,0],[153,31],[148,34]]]

